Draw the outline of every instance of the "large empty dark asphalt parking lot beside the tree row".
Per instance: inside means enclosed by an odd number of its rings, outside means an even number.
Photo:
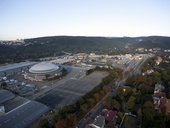
[[[73,79],[72,77],[62,84],[54,87],[51,91],[38,97],[36,100],[46,104],[51,108],[60,108],[69,105],[78,100],[82,95],[97,86],[101,79],[108,75],[107,72],[93,72],[89,76],[80,73],[81,77]],[[57,84],[57,83],[56,83]]]

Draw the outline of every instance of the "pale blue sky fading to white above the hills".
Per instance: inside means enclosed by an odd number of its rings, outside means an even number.
[[[0,0],[0,40],[170,36],[170,0]]]

